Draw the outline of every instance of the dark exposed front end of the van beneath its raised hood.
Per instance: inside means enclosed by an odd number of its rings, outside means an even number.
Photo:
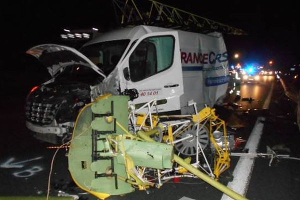
[[[81,82],[49,83],[26,99],[26,120],[38,125],[74,121],[78,110],[90,101],[90,88]]]

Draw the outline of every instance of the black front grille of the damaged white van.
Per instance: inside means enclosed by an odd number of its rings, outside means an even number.
[[[59,104],[26,102],[26,120],[36,124],[50,124],[59,108]]]

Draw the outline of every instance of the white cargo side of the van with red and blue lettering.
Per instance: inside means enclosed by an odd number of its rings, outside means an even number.
[[[225,94],[229,80],[223,38],[186,31],[178,31],[178,35],[184,86],[181,111],[188,112],[186,102],[191,99],[198,106],[213,106]]]

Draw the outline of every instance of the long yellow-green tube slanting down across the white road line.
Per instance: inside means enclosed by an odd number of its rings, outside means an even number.
[[[138,136],[140,136],[142,139],[144,139],[146,141],[155,142],[152,138],[150,138],[149,136],[144,134],[143,131],[137,131],[137,134],[138,134]],[[229,187],[223,185],[222,183],[212,179],[207,174],[203,173],[202,171],[198,170],[197,168],[193,167],[192,165],[186,163],[178,155],[174,154],[174,160],[178,164],[180,164],[182,167],[186,168],[188,171],[190,171],[194,175],[198,176],[200,179],[204,180],[205,182],[207,182],[211,186],[213,186],[213,187],[217,188],[218,190],[224,192],[226,195],[230,196],[231,198],[236,199],[236,200],[246,200],[247,199],[246,197],[244,197],[244,196],[240,195],[239,193],[233,191],[231,188],[229,188]]]

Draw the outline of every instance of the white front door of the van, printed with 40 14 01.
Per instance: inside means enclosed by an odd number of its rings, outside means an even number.
[[[138,91],[134,104],[140,105],[156,98],[158,112],[180,110],[183,81],[176,31],[143,35],[124,58],[120,68],[124,72],[120,76],[121,91],[126,88]]]

